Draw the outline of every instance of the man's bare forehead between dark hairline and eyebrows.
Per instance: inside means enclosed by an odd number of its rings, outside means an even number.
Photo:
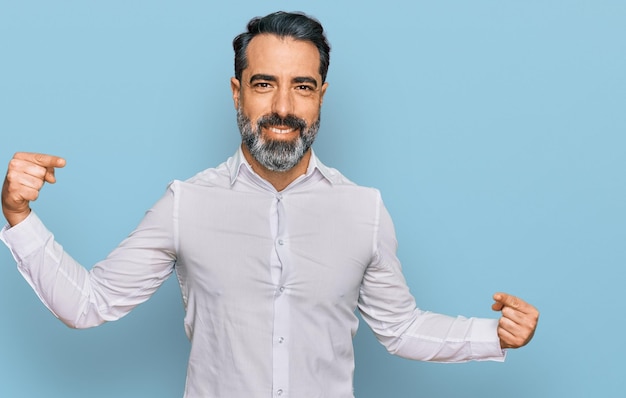
[[[321,80],[320,55],[309,41],[272,34],[255,36],[246,50],[248,67],[244,75],[257,73],[273,76],[309,76]]]

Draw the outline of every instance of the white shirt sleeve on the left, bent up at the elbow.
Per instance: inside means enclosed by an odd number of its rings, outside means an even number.
[[[87,270],[54,240],[34,212],[0,231],[19,272],[48,309],[72,328],[117,320],[146,301],[172,273],[171,189],[106,259]]]

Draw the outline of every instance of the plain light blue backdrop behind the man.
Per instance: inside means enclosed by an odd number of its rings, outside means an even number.
[[[388,355],[363,325],[358,398],[624,396],[623,1],[0,1],[0,162],[66,157],[34,208],[90,267],[164,192],[238,143],[232,38],[303,10],[333,46],[316,151],[381,189],[418,304],[542,312],[504,364]],[[4,171],[2,171],[4,172]],[[0,396],[179,397],[175,278],[70,330],[0,249]]]

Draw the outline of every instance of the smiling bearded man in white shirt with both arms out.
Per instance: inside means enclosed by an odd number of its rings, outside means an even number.
[[[503,360],[537,310],[494,295],[499,320],[418,309],[375,189],[323,165],[319,127],[330,47],[304,14],[255,18],[234,40],[231,87],[242,145],[174,181],[91,271],[31,211],[59,157],[17,153],[2,190],[2,239],[45,305],[71,327],[121,318],[175,271],[191,353],[186,397],[353,397],[355,310],[405,358]]]

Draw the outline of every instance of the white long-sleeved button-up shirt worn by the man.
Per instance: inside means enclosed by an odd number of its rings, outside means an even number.
[[[63,322],[112,321],[175,271],[191,341],[185,397],[353,397],[358,308],[406,358],[502,360],[496,320],[418,309],[380,194],[311,157],[277,192],[241,150],[174,181],[137,229],[87,271],[36,214],[0,234]]]

